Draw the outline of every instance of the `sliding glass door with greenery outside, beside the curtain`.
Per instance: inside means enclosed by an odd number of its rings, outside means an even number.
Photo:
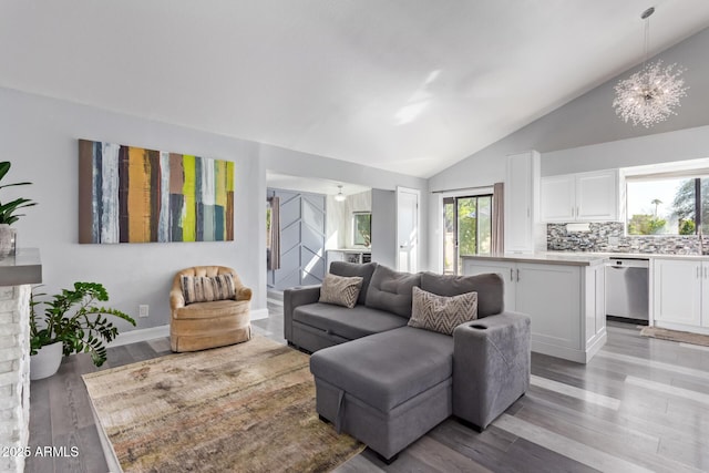
[[[462,256],[490,255],[492,195],[443,199],[443,273],[460,275]]]

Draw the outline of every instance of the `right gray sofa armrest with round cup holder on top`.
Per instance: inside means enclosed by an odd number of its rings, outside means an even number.
[[[453,414],[485,429],[530,388],[530,317],[512,311],[453,331]]]

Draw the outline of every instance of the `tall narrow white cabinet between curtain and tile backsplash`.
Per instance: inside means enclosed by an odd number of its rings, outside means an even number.
[[[534,253],[535,198],[540,186],[540,153],[507,156],[504,191],[505,253]]]

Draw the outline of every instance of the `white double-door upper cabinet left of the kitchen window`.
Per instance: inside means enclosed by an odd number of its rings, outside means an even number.
[[[618,219],[618,171],[566,174],[541,179],[542,222]]]

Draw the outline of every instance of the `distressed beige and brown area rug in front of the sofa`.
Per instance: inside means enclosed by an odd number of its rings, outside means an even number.
[[[83,379],[125,472],[322,472],[364,445],[318,419],[308,361],[256,336]]]

